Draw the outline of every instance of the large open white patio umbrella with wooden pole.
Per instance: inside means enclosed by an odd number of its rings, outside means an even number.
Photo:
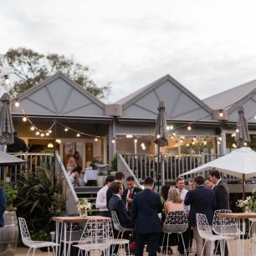
[[[241,147],[225,156],[185,172],[182,176],[210,171],[212,168],[217,168],[219,172],[242,179],[243,198],[245,198],[245,180],[256,176],[256,152],[250,147]]]

